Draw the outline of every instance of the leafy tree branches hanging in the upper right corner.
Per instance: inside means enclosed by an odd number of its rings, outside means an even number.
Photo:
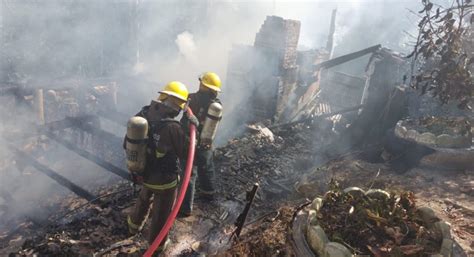
[[[471,0],[455,0],[452,7],[438,6],[436,10],[429,0],[421,2],[423,9],[419,13],[423,16],[418,23],[417,42],[407,56],[413,57],[418,66],[412,86],[422,95],[431,92],[443,104],[457,100],[459,108],[470,109],[474,94],[470,66],[474,57],[469,56],[465,42],[474,36],[469,31],[474,21]]]

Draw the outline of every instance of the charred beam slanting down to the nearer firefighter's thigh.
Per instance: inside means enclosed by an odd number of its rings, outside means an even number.
[[[88,151],[86,150],[83,150],[79,147],[77,147],[76,145],[74,145],[73,143],[65,140],[65,139],[62,139],[61,137],[55,135],[54,133],[52,132],[48,132],[46,133],[46,135],[53,139],[54,141],[58,142],[59,144],[63,145],[64,147],[66,147],[67,149],[75,152],[76,154],[82,156],[83,158],[91,161],[91,162],[94,162],[95,164],[99,165],[100,167],[114,173],[115,175],[119,176],[119,177],[122,177],[124,179],[127,179],[127,180],[130,180],[129,176],[128,176],[128,172],[109,163],[109,162],[106,162],[104,161],[103,159],[93,155],[92,153],[89,153]]]

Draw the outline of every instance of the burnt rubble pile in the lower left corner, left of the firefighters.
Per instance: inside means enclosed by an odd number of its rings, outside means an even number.
[[[132,188],[122,182],[103,188],[99,193],[102,198],[93,202],[81,198],[63,200],[63,208],[50,217],[48,225],[24,230],[32,235],[24,240],[17,254],[90,255],[126,238],[128,228],[122,211],[133,204]]]

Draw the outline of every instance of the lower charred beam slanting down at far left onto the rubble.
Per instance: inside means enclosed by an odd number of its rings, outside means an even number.
[[[62,175],[58,174],[56,171],[48,168],[46,165],[38,162],[35,158],[30,156],[29,154],[25,153],[24,151],[16,148],[12,144],[8,143],[10,149],[14,152],[14,154],[20,158],[21,162],[27,163],[33,166],[35,169],[40,171],[41,173],[45,174],[46,176],[50,177],[54,181],[58,182],[61,186],[66,187],[67,189],[71,190],[76,195],[91,201],[97,196],[93,195],[92,193],[88,192],[87,190],[83,189],[82,187],[78,186],[74,182],[70,181],[69,179],[63,177]]]

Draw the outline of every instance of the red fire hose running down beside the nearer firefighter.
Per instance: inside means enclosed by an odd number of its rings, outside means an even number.
[[[192,111],[190,108],[187,110],[190,115],[193,115]],[[178,214],[179,208],[181,207],[181,204],[183,203],[184,196],[186,195],[186,189],[188,188],[189,180],[191,178],[191,171],[193,168],[193,160],[194,160],[194,150],[195,147],[194,145],[196,144],[196,127],[193,124],[190,124],[190,129],[189,129],[189,150],[188,150],[188,159],[186,161],[186,169],[184,171],[184,179],[183,183],[181,184],[181,190],[179,190],[179,195],[178,199],[174,205],[173,210],[171,211],[170,216],[168,216],[168,219],[166,220],[165,225],[161,229],[160,233],[158,236],[156,236],[155,240],[151,244],[150,248],[145,252],[143,255],[144,257],[151,257],[152,254],[156,251],[158,246],[160,246],[161,241],[165,238],[166,234],[171,229],[171,226],[173,226],[174,220],[176,219],[176,215]]]

